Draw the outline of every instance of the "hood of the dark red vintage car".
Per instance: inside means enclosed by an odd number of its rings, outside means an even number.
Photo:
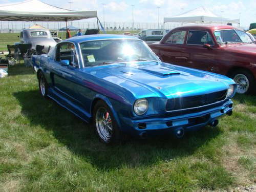
[[[245,53],[256,53],[256,44],[227,44],[222,48]]]

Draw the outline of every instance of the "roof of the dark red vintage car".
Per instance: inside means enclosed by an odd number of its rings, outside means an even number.
[[[221,30],[221,29],[238,29],[230,25],[189,25],[189,26],[182,26],[177,27],[175,29],[186,29],[186,30],[209,30],[209,31],[215,31],[215,30]]]

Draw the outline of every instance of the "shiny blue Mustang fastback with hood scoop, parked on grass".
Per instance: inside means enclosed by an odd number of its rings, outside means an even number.
[[[232,114],[232,79],[161,62],[136,37],[73,37],[32,62],[41,95],[93,122],[103,143],[124,135],[181,138]]]

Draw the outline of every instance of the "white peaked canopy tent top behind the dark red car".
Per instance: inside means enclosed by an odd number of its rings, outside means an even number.
[[[230,19],[218,16],[201,6],[173,17],[164,17],[164,23],[240,23],[240,19]]]

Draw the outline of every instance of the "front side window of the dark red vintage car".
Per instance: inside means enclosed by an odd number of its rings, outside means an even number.
[[[214,45],[209,33],[206,31],[189,31],[187,36],[187,44],[189,45]]]

